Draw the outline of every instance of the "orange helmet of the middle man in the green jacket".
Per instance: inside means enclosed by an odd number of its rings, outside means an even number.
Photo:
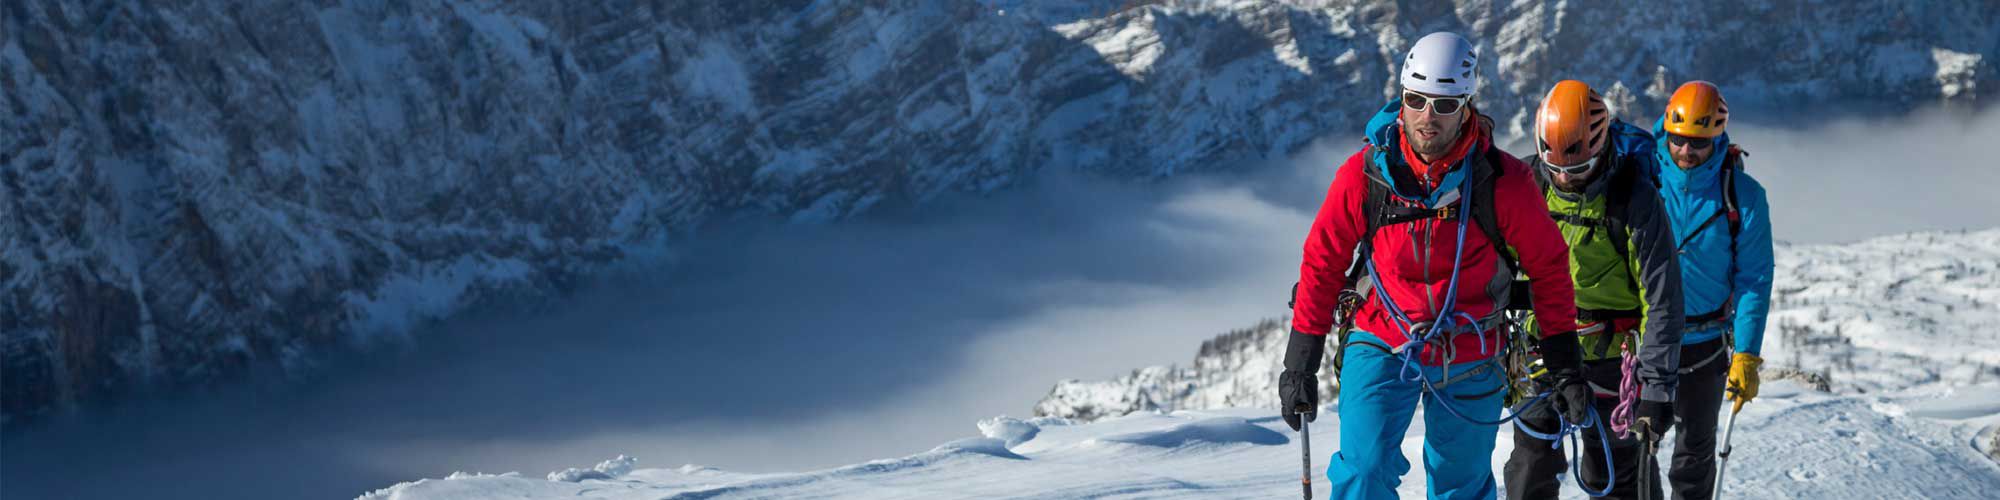
[[[1562,80],[1534,112],[1534,150],[1550,166],[1582,166],[1610,142],[1610,128],[1604,98],[1584,82]]]

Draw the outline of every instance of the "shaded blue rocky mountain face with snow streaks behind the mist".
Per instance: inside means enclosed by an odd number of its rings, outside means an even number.
[[[1144,2],[1132,2],[1144,4]],[[1460,30],[1518,136],[1630,116],[1980,106],[1992,2],[8,2],[0,416],[394,340],[736,214],[834,220],[1042,168],[1296,152]],[[1614,84],[1616,82],[1616,84]],[[6,420],[0,418],[0,420]]]

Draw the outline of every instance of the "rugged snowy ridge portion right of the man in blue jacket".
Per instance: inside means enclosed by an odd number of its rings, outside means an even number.
[[[1778,252],[1766,370],[1860,394],[2000,382],[2000,230]]]

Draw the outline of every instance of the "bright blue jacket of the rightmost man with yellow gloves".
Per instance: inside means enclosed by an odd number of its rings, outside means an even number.
[[[1682,170],[1666,148],[1666,126],[1652,126],[1654,162],[1660,180],[1660,202],[1674,222],[1674,242],[1680,246],[1680,286],[1686,314],[1698,316],[1734,306],[1736,352],[1764,350],[1764,320],[1770,316],[1770,280],[1774,274],[1770,242],[1770,202],[1764,186],[1744,168],[1736,170],[1736,208],[1742,212],[1742,232],[1730,248],[1728,220],[1716,220],[1692,234],[1696,226],[1722,210],[1722,160],[1728,156],[1730,134],[1716,138],[1716,154],[1696,168]],[[1716,340],[1722,328],[1688,324],[1684,346]],[[1760,354],[1762,356],[1762,354]]]

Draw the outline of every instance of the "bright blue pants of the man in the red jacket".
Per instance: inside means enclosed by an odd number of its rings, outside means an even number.
[[[1492,456],[1500,426],[1466,422],[1442,408],[1438,398],[1452,398],[1452,408],[1468,418],[1498,420],[1506,374],[1488,360],[1454,364],[1450,372],[1458,380],[1436,394],[1424,394],[1420,382],[1400,380],[1402,360],[1362,346],[1364,342],[1384,346],[1380,338],[1358,330],[1342,346],[1340,450],[1326,466],[1330,498],[1396,498],[1402,474],[1410,472],[1410,460],[1402,458],[1402,434],[1410,430],[1418,398],[1424,400],[1424,472],[1430,476],[1430,498],[1496,498]],[[1488,368],[1462,376],[1480,364]],[[1442,366],[1422,370],[1434,386],[1444,382]]]

